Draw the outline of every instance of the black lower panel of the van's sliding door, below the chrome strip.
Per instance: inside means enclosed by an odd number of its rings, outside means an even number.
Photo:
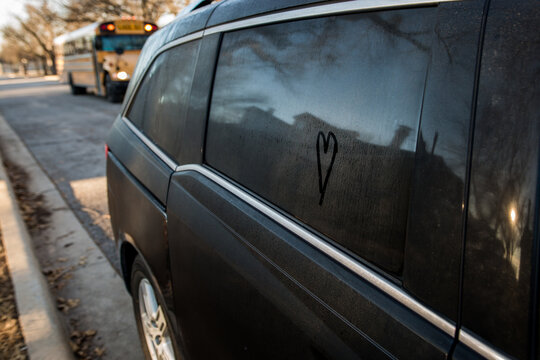
[[[449,351],[452,336],[204,176],[175,174],[168,203],[175,308],[194,359]]]

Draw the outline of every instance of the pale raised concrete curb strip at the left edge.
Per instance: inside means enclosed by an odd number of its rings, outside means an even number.
[[[1,155],[0,228],[15,289],[19,323],[30,359],[73,359],[65,330],[34,255],[30,235],[19,213]]]

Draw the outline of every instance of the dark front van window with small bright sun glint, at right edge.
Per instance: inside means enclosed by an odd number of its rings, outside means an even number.
[[[538,286],[531,271],[538,246],[538,5],[493,0],[490,6],[471,166],[463,326],[512,358],[528,359],[531,308],[537,306],[531,285]]]

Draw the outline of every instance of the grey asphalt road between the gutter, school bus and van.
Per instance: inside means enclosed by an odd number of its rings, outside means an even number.
[[[73,96],[55,78],[0,78],[0,113],[117,271],[104,144],[120,107],[94,95]]]

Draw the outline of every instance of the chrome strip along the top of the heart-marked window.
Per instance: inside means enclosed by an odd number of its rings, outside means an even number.
[[[269,15],[257,15],[256,17],[236,20],[227,24],[215,25],[204,30],[204,35],[215,34],[230,30],[243,29],[255,25],[271,24],[286,20],[301,20],[322,15],[338,15],[361,10],[377,10],[387,8],[401,8],[409,6],[437,5],[443,2],[454,2],[462,0],[353,0],[334,4],[313,4],[311,7],[301,9],[285,10]]]

